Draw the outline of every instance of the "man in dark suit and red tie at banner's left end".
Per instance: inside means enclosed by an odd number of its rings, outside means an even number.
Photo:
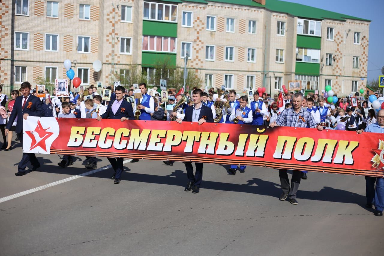
[[[44,109],[40,99],[31,94],[30,83],[24,82],[20,87],[22,89],[22,96],[15,99],[12,114],[9,117],[9,121],[5,129],[5,134],[8,134],[8,131],[11,129],[11,126],[17,117],[16,133],[20,138],[20,142],[23,144],[23,119],[26,120],[28,116],[44,116]],[[31,172],[40,167],[40,163],[35,154],[23,153],[22,160],[20,160],[18,165],[18,172],[15,173],[16,176],[23,176],[25,174],[25,168],[28,162],[31,162],[32,164]]]

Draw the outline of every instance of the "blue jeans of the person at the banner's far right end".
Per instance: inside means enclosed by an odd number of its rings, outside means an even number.
[[[376,182],[376,189],[375,189]],[[384,178],[365,177],[367,203],[375,205],[376,211],[384,209]]]

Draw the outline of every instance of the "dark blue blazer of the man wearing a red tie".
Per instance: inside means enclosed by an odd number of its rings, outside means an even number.
[[[7,124],[7,129],[11,129],[12,124],[15,122],[17,116],[16,133],[20,133],[23,130],[24,114],[28,114],[29,116],[44,116],[43,105],[41,104],[41,101],[38,97],[31,94],[28,97],[28,101],[26,102],[24,109],[22,109],[23,101],[24,96],[18,96],[15,99],[15,104],[13,105],[13,110]],[[31,102],[31,105],[29,102]],[[28,108],[28,105],[30,105],[30,108]]]

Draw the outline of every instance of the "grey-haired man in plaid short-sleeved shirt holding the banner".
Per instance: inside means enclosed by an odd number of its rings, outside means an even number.
[[[311,112],[304,110],[301,106],[303,105],[303,94],[295,93],[292,97],[292,108],[284,109],[283,112],[277,117],[276,122],[270,124],[270,127],[275,126],[290,126],[290,127],[309,127],[317,128],[319,131],[323,130],[323,127],[318,126],[314,121]],[[287,170],[279,169],[280,184],[283,190],[279,200],[288,200],[291,204],[297,205],[296,193],[299,189],[301,180],[301,171],[294,170],[292,172],[291,188],[287,175]]]

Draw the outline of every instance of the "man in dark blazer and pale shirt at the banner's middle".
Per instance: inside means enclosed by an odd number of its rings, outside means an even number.
[[[197,122],[199,125],[204,124],[205,122],[213,123],[214,118],[212,115],[212,109],[203,105],[202,102],[203,92],[200,89],[195,89],[192,92],[193,106],[189,106],[185,109],[184,120],[181,118],[176,119],[176,122],[179,124],[184,122]],[[193,174],[193,167],[191,162],[184,162],[185,169],[187,170],[187,177],[189,182],[184,191],[190,191],[196,194],[200,192],[200,184],[203,177],[203,163],[195,163],[196,173]]]

